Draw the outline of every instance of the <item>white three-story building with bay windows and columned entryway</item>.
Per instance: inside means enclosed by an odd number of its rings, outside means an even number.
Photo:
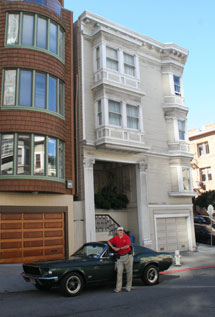
[[[194,250],[182,81],[188,51],[89,12],[74,34],[76,235],[83,229],[84,240],[98,240],[113,218],[141,245]],[[95,208],[110,174],[129,199],[124,210]]]

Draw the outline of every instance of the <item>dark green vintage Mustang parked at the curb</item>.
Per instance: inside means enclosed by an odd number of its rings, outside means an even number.
[[[132,245],[134,255],[133,278],[141,278],[147,285],[159,282],[159,272],[173,262],[169,253]],[[59,287],[67,296],[78,295],[84,286],[114,281],[116,253],[107,242],[84,244],[68,260],[23,264],[23,278],[37,289]]]

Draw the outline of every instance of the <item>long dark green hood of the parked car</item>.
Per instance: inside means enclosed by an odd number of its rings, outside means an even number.
[[[82,257],[82,256],[70,256],[68,260],[57,260],[57,261],[41,261],[41,262],[32,262],[24,264],[25,266],[39,266],[41,268],[47,267],[62,267],[67,265],[79,265],[84,262],[92,261],[92,258]]]

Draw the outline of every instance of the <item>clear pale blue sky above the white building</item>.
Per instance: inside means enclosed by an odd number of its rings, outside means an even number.
[[[183,73],[187,128],[215,123],[215,0],[64,0],[74,22],[90,11],[189,51]]]

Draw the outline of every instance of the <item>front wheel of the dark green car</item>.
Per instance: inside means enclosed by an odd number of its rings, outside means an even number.
[[[84,286],[84,281],[79,273],[69,273],[60,282],[60,291],[65,296],[77,296]]]

